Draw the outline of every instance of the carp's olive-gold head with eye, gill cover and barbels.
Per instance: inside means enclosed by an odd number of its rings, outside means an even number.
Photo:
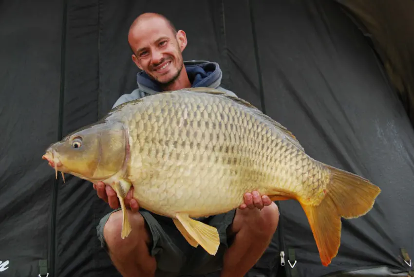
[[[57,171],[98,182],[125,170],[127,133],[121,122],[104,122],[79,129],[51,144],[42,156]]]

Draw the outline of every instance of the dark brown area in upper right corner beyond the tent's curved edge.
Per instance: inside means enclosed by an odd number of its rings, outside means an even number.
[[[336,1],[372,41],[414,125],[414,2]]]

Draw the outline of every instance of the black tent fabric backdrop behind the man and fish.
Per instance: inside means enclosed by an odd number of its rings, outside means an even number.
[[[38,276],[46,260],[51,277],[120,276],[95,230],[109,205],[89,182],[56,181],[41,155],[136,88],[127,34],[148,11],[186,31],[185,60],[218,62],[222,85],[290,129],[312,157],[382,189],[368,215],[343,221],[329,267],[300,205],[278,202],[278,230],[247,276],[407,273],[400,248],[414,256],[414,131],[381,55],[338,2],[2,1],[0,275]]]

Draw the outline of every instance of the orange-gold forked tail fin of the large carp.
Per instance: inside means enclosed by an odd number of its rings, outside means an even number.
[[[341,169],[327,166],[331,180],[325,198],[318,206],[302,205],[324,266],[337,256],[340,244],[340,218],[357,218],[371,210],[380,193],[370,181]]]

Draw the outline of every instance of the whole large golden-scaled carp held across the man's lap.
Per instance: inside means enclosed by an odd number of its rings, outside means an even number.
[[[56,174],[111,185],[122,238],[131,232],[123,199],[133,186],[141,207],[172,218],[190,245],[211,255],[218,232],[193,218],[235,209],[257,190],[301,204],[327,266],[338,253],[340,218],[366,214],[380,193],[365,178],[308,156],[290,131],[248,102],[209,88],[124,103],[52,144],[43,159]]]

